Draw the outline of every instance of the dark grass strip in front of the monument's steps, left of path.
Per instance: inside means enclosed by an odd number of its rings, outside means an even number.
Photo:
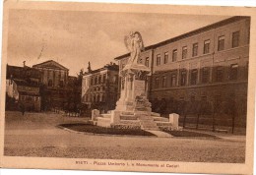
[[[131,136],[156,136],[152,133],[146,132],[144,130],[132,130],[132,129],[114,129],[114,128],[104,128],[98,127],[91,124],[61,124],[59,125],[63,128],[68,128],[70,130],[94,134],[107,134],[107,135],[131,135]]]

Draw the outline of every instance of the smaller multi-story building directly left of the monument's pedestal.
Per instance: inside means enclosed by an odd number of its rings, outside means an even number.
[[[83,76],[82,103],[87,109],[107,112],[115,108],[118,92],[118,65],[110,63]]]

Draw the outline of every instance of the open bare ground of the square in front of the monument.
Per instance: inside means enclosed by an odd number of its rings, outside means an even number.
[[[54,113],[26,113],[22,116],[20,112],[6,112],[4,154],[188,162],[245,161],[245,136],[218,134],[221,139],[217,140],[117,137],[78,134],[56,127],[88,119]]]

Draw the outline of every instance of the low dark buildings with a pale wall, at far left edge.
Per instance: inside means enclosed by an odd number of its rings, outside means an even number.
[[[7,65],[6,109],[18,110],[23,105],[26,110],[41,110],[39,91],[40,72],[26,65],[24,67]]]

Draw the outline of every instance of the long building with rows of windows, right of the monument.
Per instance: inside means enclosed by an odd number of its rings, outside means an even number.
[[[182,114],[182,104],[201,102],[235,108],[246,121],[249,39],[250,18],[232,17],[146,47],[140,62],[152,70],[153,110]],[[115,58],[120,70],[128,57]]]

